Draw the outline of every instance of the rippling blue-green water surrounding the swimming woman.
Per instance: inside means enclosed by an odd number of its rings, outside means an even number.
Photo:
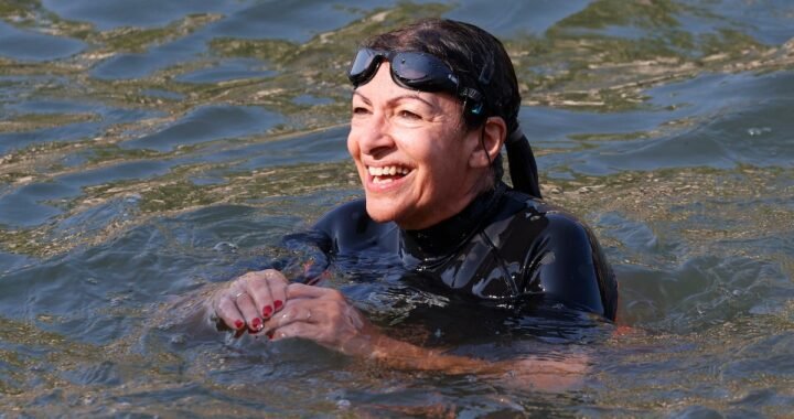
[[[587,352],[580,388],[384,369],[171,310],[361,195],[346,66],[437,15],[505,43],[545,196],[596,230],[630,327],[441,343]],[[0,0],[0,418],[785,417],[792,109],[784,0]],[[331,284],[418,339],[389,286],[356,280]]]

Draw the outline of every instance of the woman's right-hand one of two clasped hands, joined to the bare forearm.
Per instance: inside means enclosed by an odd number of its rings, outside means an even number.
[[[379,333],[337,290],[290,283],[287,304],[265,323],[275,340],[302,337],[348,355],[373,355]]]

